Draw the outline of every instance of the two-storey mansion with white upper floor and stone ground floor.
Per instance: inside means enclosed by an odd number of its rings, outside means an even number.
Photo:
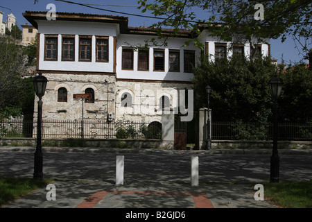
[[[166,45],[142,48],[157,35],[151,28],[128,26],[128,17],[58,12],[56,20],[48,20],[46,12],[23,15],[38,31],[37,73],[49,80],[43,119],[81,119],[81,99],[73,94],[92,94],[83,101],[85,119],[161,122],[162,110],[175,110],[180,92],[192,89],[192,69],[201,53],[211,60],[251,54],[249,44],[223,42],[205,28],[198,36],[204,51],[192,42],[183,46],[192,41],[190,31],[170,37],[170,29],[163,30],[169,36]],[[268,56],[269,40],[257,48]]]

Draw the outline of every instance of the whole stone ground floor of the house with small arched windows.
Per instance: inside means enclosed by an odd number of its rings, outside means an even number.
[[[119,80],[114,74],[94,73],[44,76],[49,82],[42,97],[43,119],[161,122],[164,110],[178,112],[178,107],[193,102],[191,82]],[[82,101],[73,99],[73,94],[92,94],[92,98]]]

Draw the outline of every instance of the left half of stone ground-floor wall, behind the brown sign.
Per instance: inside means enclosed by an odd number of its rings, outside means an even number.
[[[84,119],[106,120],[107,113],[114,114],[116,77],[102,74],[43,74],[49,82],[42,97],[43,119],[78,120],[82,118],[82,101],[73,99],[73,94],[84,94],[85,89],[94,89],[94,103],[84,102]],[[58,89],[67,89],[67,102],[58,102]],[[37,119],[37,96],[34,118]]]

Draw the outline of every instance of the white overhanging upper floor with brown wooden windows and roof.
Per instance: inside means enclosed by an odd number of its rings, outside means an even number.
[[[46,12],[25,12],[24,17],[38,30],[37,71],[114,74],[121,80],[190,81],[202,51],[192,44],[188,31],[168,37],[166,46],[144,46],[157,39],[146,27],[128,27],[127,17],[58,12],[56,20]],[[170,33],[164,30],[164,33]],[[211,60],[238,53],[250,57],[250,45],[223,42],[202,30],[199,36]],[[191,40],[189,46],[183,46]],[[257,44],[262,56],[270,44]]]

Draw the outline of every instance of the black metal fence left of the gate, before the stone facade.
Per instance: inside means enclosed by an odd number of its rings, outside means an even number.
[[[37,121],[0,121],[0,137],[36,136]],[[42,138],[161,139],[161,136],[161,126],[146,122],[42,120]]]

